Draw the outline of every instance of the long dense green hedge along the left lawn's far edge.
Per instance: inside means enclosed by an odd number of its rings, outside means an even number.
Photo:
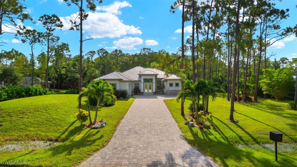
[[[0,101],[48,94],[55,94],[55,92],[50,91],[48,88],[43,88],[41,86],[4,86],[0,89]]]

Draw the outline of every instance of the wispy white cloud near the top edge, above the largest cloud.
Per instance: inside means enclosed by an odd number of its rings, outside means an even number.
[[[102,6],[102,7],[97,6],[96,10],[103,10],[107,13],[120,15],[122,14],[122,12],[119,9],[123,7],[132,7],[132,5],[130,5],[129,2],[127,1],[123,1],[123,2],[114,1],[113,4],[110,4],[108,6]]]

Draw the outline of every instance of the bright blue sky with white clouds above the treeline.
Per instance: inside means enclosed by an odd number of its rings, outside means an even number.
[[[89,17],[83,22],[83,39],[94,38],[83,42],[83,52],[97,51],[105,48],[111,52],[114,49],[121,49],[124,53],[135,53],[141,48],[151,48],[154,51],[164,49],[168,52],[176,52],[181,45],[181,33],[176,30],[181,28],[181,11],[175,14],[169,12],[173,0],[129,0],[110,1],[103,0],[97,4],[97,10],[89,12]],[[26,0],[28,12],[37,24],[28,21],[24,23],[28,28],[45,31],[37,19],[44,14],[56,14],[63,21],[62,30],[56,30],[55,35],[60,36],[60,42],[69,43],[71,54],[79,54],[79,31],[69,31],[69,19],[76,17],[78,8],[74,5],[67,7],[62,0]],[[297,2],[295,0],[283,0],[277,3],[280,9],[290,9],[290,17],[282,23],[283,27],[294,26],[297,23]],[[191,28],[191,23],[185,23],[185,27]],[[190,35],[185,32],[185,37]],[[12,34],[4,34],[1,42],[7,42],[0,49],[16,50],[29,56],[30,46],[21,43]],[[37,45],[34,53],[39,54],[42,46]],[[281,57],[297,57],[297,39],[295,36],[287,37],[276,42],[268,49],[268,55],[273,52],[277,59]]]

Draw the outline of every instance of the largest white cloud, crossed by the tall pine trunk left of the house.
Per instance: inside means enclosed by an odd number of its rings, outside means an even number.
[[[100,10],[106,11],[104,13],[88,12],[88,18],[85,21],[83,21],[83,29],[89,34],[89,36],[91,36],[91,38],[114,38],[121,37],[127,34],[142,34],[139,27],[134,27],[133,25],[126,25],[122,23],[118,16],[116,16],[115,13],[119,14],[120,12],[114,10],[118,10],[120,7],[125,6],[127,6],[127,4],[119,5],[119,2],[114,2],[109,6],[100,7]],[[70,16],[60,17],[60,20],[63,22],[64,25],[62,27],[62,30],[68,30],[71,27],[71,22],[69,20],[74,21],[77,15],[78,13],[74,13]]]

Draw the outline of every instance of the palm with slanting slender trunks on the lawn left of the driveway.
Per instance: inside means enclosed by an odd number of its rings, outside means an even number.
[[[96,120],[97,120],[99,104],[101,105],[104,102],[108,102],[108,101],[112,100],[113,87],[107,81],[103,81],[102,79],[100,79],[98,81],[93,81],[93,82],[89,83],[87,88],[84,88],[80,92],[78,99],[81,99],[82,97],[88,98],[88,111],[89,111],[90,124],[95,125]],[[90,103],[89,103],[90,97],[97,99],[95,119],[94,119],[93,123],[92,123],[91,114],[90,114]]]

